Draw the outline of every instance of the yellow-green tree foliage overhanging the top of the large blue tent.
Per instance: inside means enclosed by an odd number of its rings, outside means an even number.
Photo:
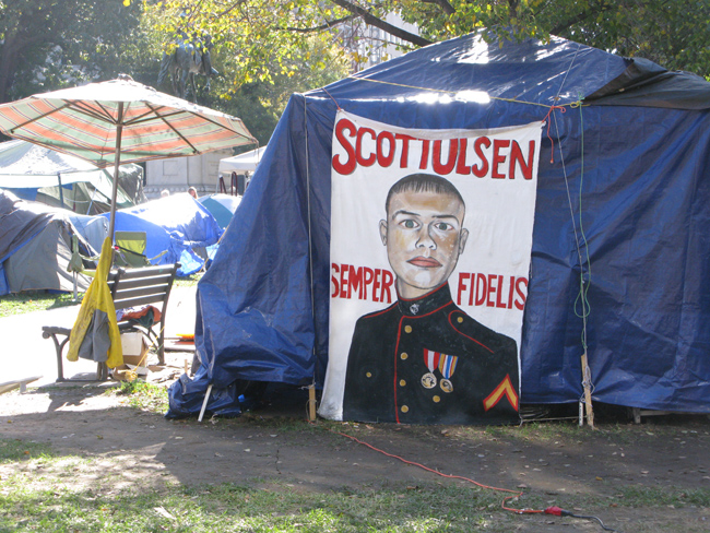
[[[146,0],[146,11],[166,42],[180,27],[210,33],[234,58],[235,86],[291,75],[298,64],[324,68],[304,37],[343,44],[358,24],[389,32],[405,49],[487,27],[513,39],[558,35],[710,75],[707,0]],[[388,24],[389,13],[416,24],[418,35]],[[352,43],[348,51],[362,59]]]

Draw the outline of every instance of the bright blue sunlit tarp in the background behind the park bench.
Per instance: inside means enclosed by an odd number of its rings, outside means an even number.
[[[108,213],[102,214],[108,218]],[[145,256],[153,264],[180,262],[179,276],[202,269],[194,249],[216,245],[223,229],[212,214],[188,193],[161,198],[116,211],[117,232],[145,232]]]

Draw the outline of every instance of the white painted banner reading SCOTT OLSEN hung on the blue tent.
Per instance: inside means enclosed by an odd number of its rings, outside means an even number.
[[[339,111],[321,416],[518,419],[541,131],[412,130]]]

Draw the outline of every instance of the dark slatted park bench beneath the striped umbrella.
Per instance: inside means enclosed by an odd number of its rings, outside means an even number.
[[[158,266],[144,266],[140,269],[116,269],[108,274],[108,286],[111,291],[111,299],[116,309],[135,308],[139,306],[153,306],[161,313],[159,322],[153,324],[152,320],[141,320],[134,318],[121,318],[118,321],[118,328],[125,331],[142,331],[157,346],[158,363],[165,364],[165,312],[167,310],[167,300],[170,296],[175,274],[180,268],[180,263],[164,264]],[[157,333],[154,327],[159,329]],[[57,381],[94,381],[86,379],[64,378],[62,353],[69,342],[71,328],[60,328],[56,325],[44,325],[42,336],[55,342],[57,352]],[[97,363],[96,380],[105,381],[108,379],[108,367],[106,363]]]

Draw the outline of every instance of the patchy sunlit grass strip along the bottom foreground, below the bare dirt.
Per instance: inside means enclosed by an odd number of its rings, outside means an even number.
[[[117,488],[116,479],[109,483],[106,478],[82,485],[76,483],[79,470],[108,473],[107,461],[118,463],[121,459],[52,457],[39,446],[0,442],[5,466],[7,462],[16,466],[12,475],[0,476],[0,531],[507,533],[544,531],[551,523],[546,516],[504,511],[505,493],[455,482],[392,483],[380,489],[328,493],[303,490],[287,478],[197,486],[168,482],[150,487],[145,481],[137,481],[128,488]],[[23,449],[32,449],[33,459],[25,459]],[[708,489],[639,486],[619,488],[613,507],[682,508],[709,502]],[[509,504],[531,509],[552,505],[549,496],[542,493],[525,494]],[[581,499],[579,495],[558,495],[554,504],[565,509],[581,504],[589,514],[610,507],[608,497],[594,495]],[[572,518],[556,522],[580,524]],[[676,530],[658,529],[656,524],[652,530],[634,531]]]

